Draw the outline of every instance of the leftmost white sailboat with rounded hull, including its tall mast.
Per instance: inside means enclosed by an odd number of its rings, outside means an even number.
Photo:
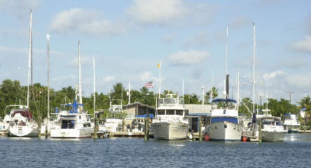
[[[27,106],[6,106],[6,109],[11,109],[5,118],[6,120],[10,119],[8,127],[8,136],[10,137],[39,137],[39,126],[34,122],[32,113],[29,111],[29,78],[32,69],[32,10],[30,10],[28,61]]]

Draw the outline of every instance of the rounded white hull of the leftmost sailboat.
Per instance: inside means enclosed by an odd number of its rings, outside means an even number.
[[[18,126],[8,128],[9,137],[39,137],[39,129],[30,126]]]

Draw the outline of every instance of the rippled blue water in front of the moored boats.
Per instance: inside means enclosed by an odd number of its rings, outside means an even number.
[[[0,167],[311,167],[311,134],[281,143],[0,138]]]

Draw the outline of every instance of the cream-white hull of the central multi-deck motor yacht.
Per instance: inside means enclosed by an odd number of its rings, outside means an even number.
[[[180,140],[187,139],[188,125],[185,123],[153,123],[155,139]]]

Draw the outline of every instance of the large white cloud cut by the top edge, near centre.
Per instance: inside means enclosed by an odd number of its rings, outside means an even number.
[[[135,0],[127,10],[132,20],[145,25],[167,25],[183,18],[187,12],[180,0]]]

